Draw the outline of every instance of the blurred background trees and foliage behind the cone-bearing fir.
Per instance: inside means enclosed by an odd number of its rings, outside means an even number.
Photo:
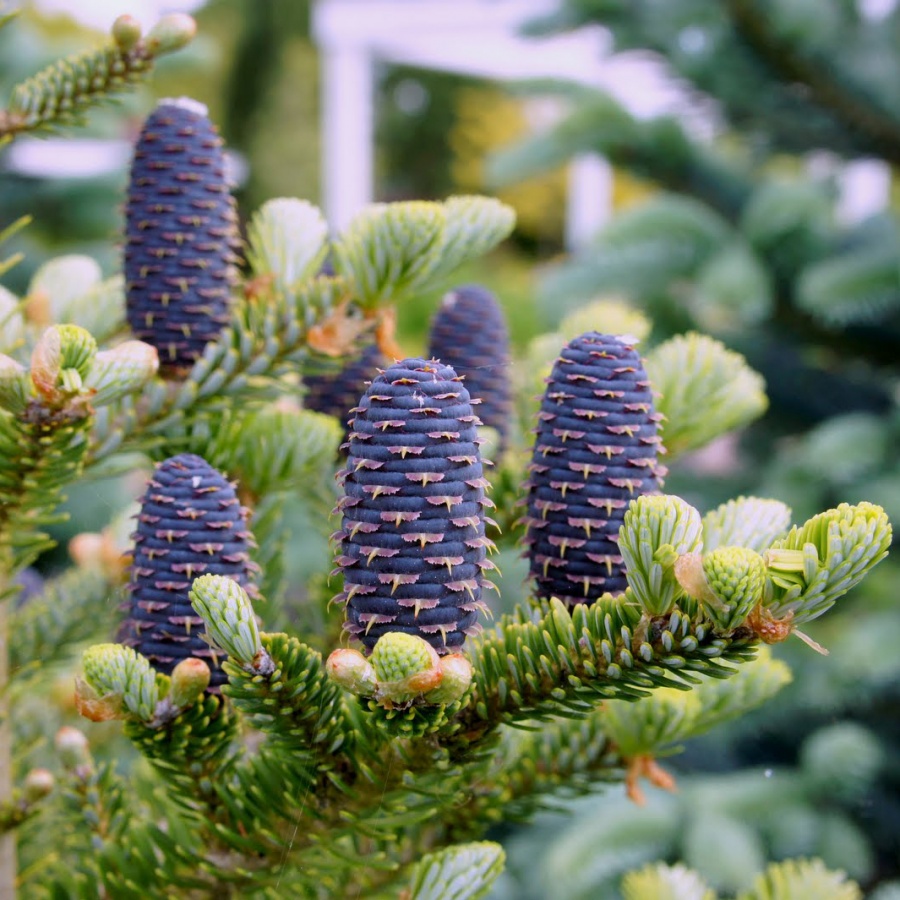
[[[490,183],[516,208],[513,239],[457,280],[496,293],[526,368],[537,358],[529,356],[535,338],[597,297],[645,312],[647,346],[694,328],[747,355],[766,377],[768,414],[679,463],[668,491],[704,510],[739,493],[778,497],[794,521],[871,500],[898,522],[896,178],[875,216],[845,222],[836,205],[842,160],[900,159],[900,13],[882,5],[887,13],[873,22],[851,0],[569,0],[536,28],[599,23],[620,49],[664,58],[695,96],[714,99],[711,144],[677,117],[637,121],[580,88],[528,95],[385,67],[378,199],[438,198]],[[762,31],[758,10],[768,15]],[[159,64],[152,93],[92,114],[78,137],[129,140],[155,97],[187,94],[209,106],[236,155],[245,220],[270,197],[319,202],[322,110],[309,13],[310,0],[210,0],[195,13],[197,41]],[[0,91],[85,38],[83,26],[25,4],[18,26],[0,32]],[[827,92],[823,99],[826,70],[856,105],[829,102]],[[560,101],[571,116],[547,125]],[[875,101],[878,121],[894,129],[881,143],[859,126]],[[615,167],[615,215],[590,247],[566,257],[566,165],[585,150]],[[811,166],[815,155],[827,165]],[[5,248],[24,253],[3,279],[8,288],[24,294],[41,263],[61,253],[88,253],[105,273],[117,271],[127,163],[126,153],[102,174],[43,178],[0,154],[0,228],[34,216]],[[406,352],[424,351],[440,294],[405,308],[398,340]],[[139,490],[134,479],[79,487],[69,502],[77,515],[58,537],[98,527]],[[287,530],[298,548],[288,573],[297,615],[319,615],[331,592],[321,581],[306,585],[328,553],[327,532],[302,508],[288,511]],[[513,551],[503,556],[508,596],[521,568]],[[604,793],[562,804],[533,827],[501,829],[510,865],[493,896],[615,898],[622,874],[654,859],[683,860],[714,887],[737,891],[764,861],[798,855],[819,855],[889,896],[900,879],[897,578],[897,564],[885,565],[841,615],[810,629],[828,660],[799,642],[779,647],[793,683],[764,711],[667,762],[679,776],[677,796],[652,793],[639,809]],[[65,715],[67,690],[54,698]],[[35,704],[35,735],[49,714]]]

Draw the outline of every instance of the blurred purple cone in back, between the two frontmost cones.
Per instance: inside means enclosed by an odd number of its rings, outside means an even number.
[[[464,376],[469,396],[481,401],[481,421],[497,429],[504,445],[512,415],[509,331],[494,295],[474,284],[447,293],[432,319],[429,342],[432,357]]]

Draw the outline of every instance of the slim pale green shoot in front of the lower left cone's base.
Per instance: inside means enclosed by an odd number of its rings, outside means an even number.
[[[190,598],[212,640],[232,659],[256,667],[263,648],[247,592],[224,575],[201,575],[191,585]]]

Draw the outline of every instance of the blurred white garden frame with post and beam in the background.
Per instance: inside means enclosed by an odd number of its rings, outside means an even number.
[[[524,22],[556,5],[556,0],[316,0],[313,36],[321,51],[323,90],[322,195],[332,228],[342,229],[374,198],[378,63],[498,81],[568,79],[609,91],[638,117],[677,113],[692,129],[711,132],[709,108],[689,100],[659,62],[647,56],[611,56],[609,36],[602,29],[583,28],[550,38],[521,35]],[[571,165],[569,178],[566,243],[574,249],[609,216],[612,176],[604,160],[588,155]],[[842,217],[857,220],[883,208],[889,179],[880,161],[845,167]]]

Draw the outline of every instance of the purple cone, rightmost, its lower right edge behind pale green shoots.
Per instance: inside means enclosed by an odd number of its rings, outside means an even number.
[[[665,474],[658,420],[641,358],[624,338],[588,332],[563,348],[527,482],[525,543],[538,596],[571,606],[625,590],[619,528],[629,501],[658,490]]]

